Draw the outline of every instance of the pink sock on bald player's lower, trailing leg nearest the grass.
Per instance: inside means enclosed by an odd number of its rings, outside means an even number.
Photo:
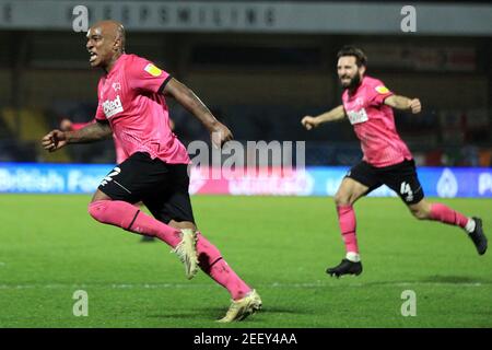
[[[222,258],[219,249],[200,232],[198,232],[197,253],[203,272],[227,289],[233,300],[244,298],[251,290]]]

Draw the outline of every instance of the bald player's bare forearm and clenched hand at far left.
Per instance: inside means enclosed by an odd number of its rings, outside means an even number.
[[[89,143],[112,136],[113,131],[108,124],[92,122],[77,131],[51,130],[42,139],[42,145],[49,152],[58,151],[68,143]]]

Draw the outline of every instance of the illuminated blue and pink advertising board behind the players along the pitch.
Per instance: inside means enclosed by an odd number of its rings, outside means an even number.
[[[91,194],[109,173],[109,164],[0,163],[0,192],[7,194]],[[208,168],[192,167],[194,195],[244,196],[333,196],[349,168],[344,166],[306,167],[285,171],[269,167],[260,172],[227,174],[210,179]],[[425,195],[441,198],[492,198],[492,170],[485,167],[420,167]],[[396,196],[380,187],[370,196]]]

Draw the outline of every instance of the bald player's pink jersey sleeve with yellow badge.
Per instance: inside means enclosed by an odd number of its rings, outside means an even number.
[[[151,93],[161,93],[171,75],[144,59],[136,59],[128,71],[128,84],[131,89]]]

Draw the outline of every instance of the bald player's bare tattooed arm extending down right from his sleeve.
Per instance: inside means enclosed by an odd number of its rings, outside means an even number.
[[[210,132],[213,145],[221,147],[224,142],[233,139],[231,130],[216,120],[209,108],[185,84],[172,78],[164,88],[164,94],[172,95],[176,98],[183,107],[204,125]]]

